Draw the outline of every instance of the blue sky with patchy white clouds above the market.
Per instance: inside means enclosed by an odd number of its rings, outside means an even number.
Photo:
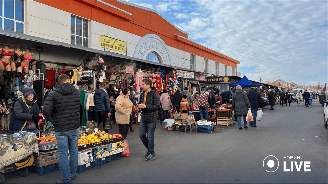
[[[240,61],[237,72],[250,80],[328,80],[328,1],[128,2],[156,10],[188,39]]]

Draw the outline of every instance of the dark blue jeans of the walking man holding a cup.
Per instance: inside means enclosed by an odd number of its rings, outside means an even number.
[[[144,144],[149,154],[155,155],[155,129],[156,129],[157,121],[147,123],[141,119],[139,126],[139,137],[141,142]],[[147,134],[147,136],[146,136]]]

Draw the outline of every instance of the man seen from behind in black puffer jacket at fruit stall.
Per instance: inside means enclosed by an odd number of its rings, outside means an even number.
[[[56,133],[61,172],[61,179],[56,183],[71,183],[78,162],[81,93],[71,84],[69,76],[62,74],[57,80],[59,85],[49,93],[42,111],[45,116],[51,116]]]

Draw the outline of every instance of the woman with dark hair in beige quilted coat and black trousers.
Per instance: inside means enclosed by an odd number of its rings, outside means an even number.
[[[130,115],[132,112],[132,101],[129,99],[131,91],[124,88],[116,98],[115,118],[119,133],[126,139],[129,130]]]

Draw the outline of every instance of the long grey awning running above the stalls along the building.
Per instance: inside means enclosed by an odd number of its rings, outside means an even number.
[[[169,68],[192,71],[192,72],[200,72],[200,71],[191,70],[191,69],[188,69],[188,68],[182,68],[182,67],[172,66],[172,65],[163,64],[163,63],[155,63],[155,62],[152,62],[152,61],[143,60],[143,59],[139,59],[139,58],[134,58],[134,57],[130,57],[130,56],[114,53],[114,52],[108,52],[108,51],[104,51],[104,50],[98,50],[98,49],[82,47],[82,46],[76,46],[76,45],[72,45],[72,44],[68,44],[68,43],[64,43],[64,42],[58,42],[58,41],[49,40],[49,39],[45,39],[45,38],[39,38],[39,37],[27,35],[27,34],[15,33],[15,32],[8,31],[8,30],[2,30],[1,29],[0,34],[1,34],[1,36],[9,36],[9,37],[13,37],[13,38],[20,38],[20,39],[24,39],[24,40],[30,40],[30,41],[34,41],[34,42],[37,42],[37,43],[44,43],[44,44],[49,44],[49,45],[53,45],[53,46],[63,46],[63,47],[68,47],[68,48],[74,48],[74,49],[84,50],[84,51],[88,51],[88,52],[92,52],[92,53],[99,53],[99,54],[108,55],[108,56],[112,56],[112,57],[124,58],[124,59],[128,59],[128,60],[133,60],[133,61],[139,61],[139,62],[143,62],[143,63],[147,63],[147,64],[154,64],[154,65],[165,66],[165,67],[169,67]],[[2,44],[4,44],[4,43],[2,43]]]

